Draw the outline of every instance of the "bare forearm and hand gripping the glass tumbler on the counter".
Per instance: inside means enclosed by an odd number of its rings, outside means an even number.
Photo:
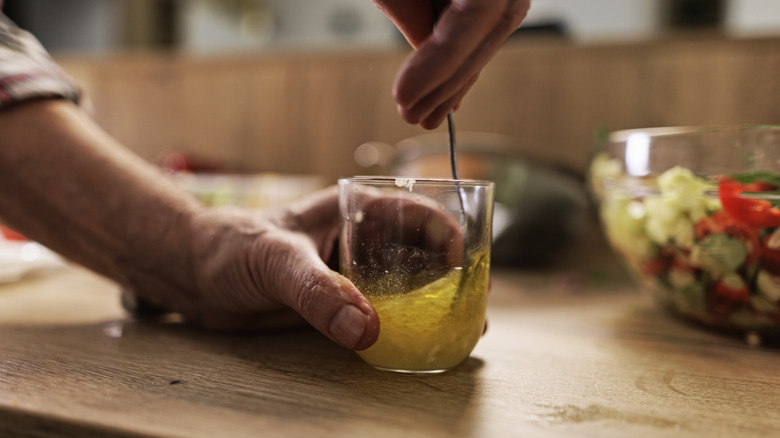
[[[0,111],[0,216],[203,327],[303,317],[346,348],[376,341],[373,307],[323,261],[337,211],[332,191],[264,213],[206,209],[72,103]]]

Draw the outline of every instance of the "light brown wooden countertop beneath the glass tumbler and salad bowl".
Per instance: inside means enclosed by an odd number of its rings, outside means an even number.
[[[0,436],[780,435],[780,351],[680,322],[609,268],[495,270],[487,335],[432,376],[311,330],[133,321],[79,268],[0,286]]]

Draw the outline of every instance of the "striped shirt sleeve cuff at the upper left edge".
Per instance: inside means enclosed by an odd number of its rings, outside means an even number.
[[[35,37],[0,12],[0,110],[38,98],[78,103],[81,92]]]

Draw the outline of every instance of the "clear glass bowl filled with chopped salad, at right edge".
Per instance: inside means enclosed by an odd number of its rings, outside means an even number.
[[[780,126],[613,132],[589,182],[607,239],[661,306],[780,340]]]

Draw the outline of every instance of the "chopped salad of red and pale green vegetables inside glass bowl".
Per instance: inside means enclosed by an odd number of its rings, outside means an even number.
[[[591,182],[608,240],[657,301],[711,326],[780,338],[780,174],[673,167],[636,177],[601,154]]]

